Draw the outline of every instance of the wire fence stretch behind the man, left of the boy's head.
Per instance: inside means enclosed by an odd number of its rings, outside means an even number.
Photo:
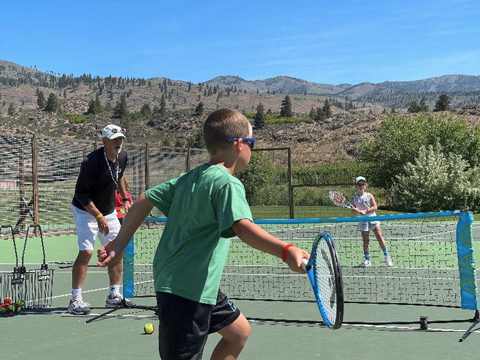
[[[80,165],[99,141],[0,135],[0,224],[17,233],[40,224],[46,234],[75,230],[71,200]],[[206,163],[205,149],[126,144],[124,176],[134,199],[149,187]]]

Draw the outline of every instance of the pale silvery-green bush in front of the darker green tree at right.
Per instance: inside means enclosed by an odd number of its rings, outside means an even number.
[[[396,176],[387,195],[396,211],[480,208],[480,167],[469,168],[459,154],[444,154],[439,143],[420,147],[418,157]]]

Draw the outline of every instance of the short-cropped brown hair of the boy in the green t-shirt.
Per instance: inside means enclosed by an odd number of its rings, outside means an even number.
[[[205,147],[216,154],[228,147],[228,139],[250,135],[250,121],[237,110],[223,108],[212,112],[204,123]]]

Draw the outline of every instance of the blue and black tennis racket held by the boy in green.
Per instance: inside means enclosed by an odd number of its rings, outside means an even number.
[[[333,330],[344,320],[344,286],[337,249],[329,234],[317,235],[310,260],[302,259],[324,324]]]

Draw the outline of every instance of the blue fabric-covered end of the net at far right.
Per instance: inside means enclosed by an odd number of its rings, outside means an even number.
[[[478,310],[477,270],[473,250],[473,214],[460,211],[457,223],[457,257],[460,275],[461,309]]]

